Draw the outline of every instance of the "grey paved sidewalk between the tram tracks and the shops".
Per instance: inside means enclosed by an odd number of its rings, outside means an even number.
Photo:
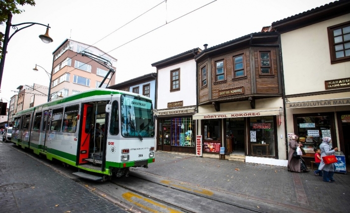
[[[273,204],[315,212],[350,212],[349,174],[335,173],[336,182],[328,183],[313,171],[296,173],[287,167],[162,151],[156,152],[156,162],[148,169],[138,170]]]

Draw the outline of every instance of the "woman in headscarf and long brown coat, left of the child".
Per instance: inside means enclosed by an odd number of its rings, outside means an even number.
[[[293,153],[296,150],[296,148],[301,146],[298,144],[298,142],[296,142],[297,139],[297,135],[292,135],[288,144],[288,170],[295,172],[309,172],[310,170],[307,169],[305,161],[301,158],[301,156],[298,155],[297,157],[293,157]]]

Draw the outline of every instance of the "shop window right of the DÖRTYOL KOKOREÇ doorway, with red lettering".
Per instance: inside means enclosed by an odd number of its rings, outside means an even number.
[[[251,117],[249,120],[250,155],[275,156],[276,116]]]

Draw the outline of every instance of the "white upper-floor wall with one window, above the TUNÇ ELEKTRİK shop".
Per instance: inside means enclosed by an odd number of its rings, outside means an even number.
[[[180,68],[180,90],[170,92],[171,70]],[[183,106],[196,105],[196,62],[194,59],[158,70],[157,109],[167,109],[169,102],[183,101]]]

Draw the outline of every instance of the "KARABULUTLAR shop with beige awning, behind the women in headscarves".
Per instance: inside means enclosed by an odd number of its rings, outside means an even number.
[[[331,98],[332,96],[336,98]],[[344,92],[288,98],[288,132],[299,136],[307,165],[311,165],[310,161],[313,161],[315,155],[314,148],[322,143],[322,137],[331,137],[331,146],[338,147],[344,153],[346,163],[350,163],[349,97],[350,93]]]

